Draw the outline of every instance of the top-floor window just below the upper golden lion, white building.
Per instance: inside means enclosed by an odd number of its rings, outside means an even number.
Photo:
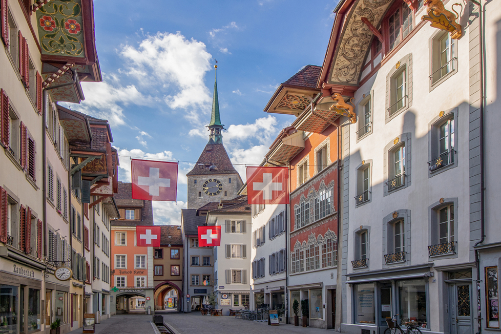
[[[431,86],[440,83],[456,71],[457,46],[447,32],[438,32],[431,38]]]

